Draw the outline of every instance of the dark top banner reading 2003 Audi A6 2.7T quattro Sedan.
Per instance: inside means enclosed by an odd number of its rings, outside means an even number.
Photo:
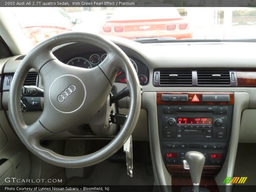
[[[256,7],[256,0],[1,0],[0,7]]]

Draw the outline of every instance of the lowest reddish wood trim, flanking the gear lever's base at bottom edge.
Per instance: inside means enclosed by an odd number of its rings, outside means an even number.
[[[192,186],[190,176],[172,176],[172,191],[181,191],[181,188]],[[218,185],[213,177],[201,177],[200,187],[207,188],[211,192],[219,192]]]

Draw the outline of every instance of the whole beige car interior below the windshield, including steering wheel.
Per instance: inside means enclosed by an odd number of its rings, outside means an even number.
[[[256,185],[255,40],[73,31],[28,50],[0,26],[0,185]]]

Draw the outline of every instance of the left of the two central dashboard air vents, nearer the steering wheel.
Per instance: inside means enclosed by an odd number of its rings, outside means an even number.
[[[160,70],[160,85],[192,85],[192,70]]]

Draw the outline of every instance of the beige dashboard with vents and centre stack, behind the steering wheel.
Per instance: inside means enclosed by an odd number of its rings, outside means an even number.
[[[171,185],[172,178],[166,173],[183,172],[184,154],[197,150],[204,153],[206,166],[215,167],[215,171],[211,167],[206,170],[207,175],[217,175],[216,182],[221,184],[223,177],[233,172],[237,143],[256,140],[252,134],[256,123],[255,43],[113,42],[131,59],[141,78],[142,107],[132,137],[150,140],[155,174],[162,178],[159,183]],[[52,52],[61,62],[81,68],[97,67],[107,57],[104,50],[91,44],[60,45]],[[8,58],[2,64],[0,60],[0,67],[4,66],[2,85],[12,79],[21,62],[18,58]],[[43,88],[40,74],[36,79],[36,85]],[[115,92],[123,90],[125,83],[125,73],[120,70],[113,85]],[[9,89],[4,86],[0,108],[8,110]],[[223,99],[227,95],[228,99]],[[128,111],[129,100],[127,97],[118,101],[118,113]],[[35,99],[28,101],[36,103]],[[41,108],[43,101],[38,100],[37,107]],[[25,121],[32,124],[36,114],[40,116],[41,111],[25,112]],[[72,131],[48,139],[92,137],[88,130]]]

